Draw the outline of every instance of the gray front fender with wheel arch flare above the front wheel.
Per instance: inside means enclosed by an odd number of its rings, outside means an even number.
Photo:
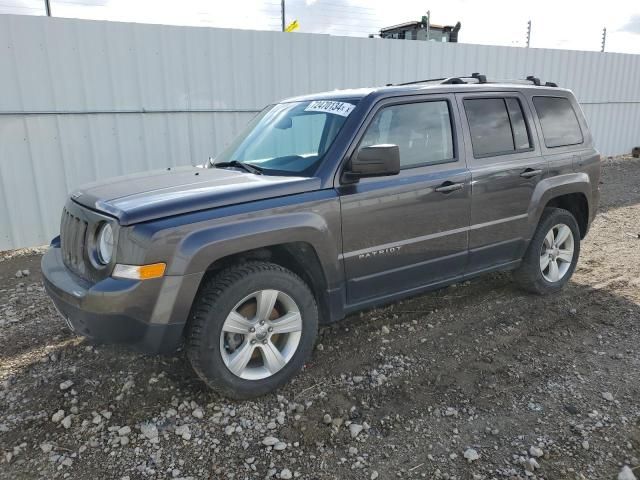
[[[211,275],[234,262],[259,259],[301,277],[317,298],[321,318],[336,321],[344,316],[345,296],[340,235],[339,209],[321,204],[314,210],[248,213],[165,229],[160,254],[171,259],[166,275],[195,283],[179,295],[182,318],[191,318],[194,302]]]

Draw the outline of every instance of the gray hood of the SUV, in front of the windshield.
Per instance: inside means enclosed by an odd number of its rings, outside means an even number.
[[[254,175],[222,168],[176,167],[81,187],[71,198],[121,225],[320,188],[320,179]]]

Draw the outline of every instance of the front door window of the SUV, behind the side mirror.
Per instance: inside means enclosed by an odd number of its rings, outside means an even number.
[[[400,147],[400,165],[412,167],[452,160],[453,133],[446,101],[408,103],[380,110],[360,147],[391,143]]]

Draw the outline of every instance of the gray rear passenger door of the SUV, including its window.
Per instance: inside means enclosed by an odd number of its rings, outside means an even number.
[[[471,173],[468,273],[492,269],[524,254],[528,210],[548,174],[535,124],[519,92],[457,94]]]

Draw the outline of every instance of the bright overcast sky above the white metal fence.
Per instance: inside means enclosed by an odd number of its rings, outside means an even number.
[[[286,22],[300,32],[367,36],[380,28],[420,20],[462,22],[459,41],[640,54],[640,1],[607,0],[287,0]],[[0,13],[42,15],[44,0],[0,0]],[[173,25],[280,29],[279,0],[51,0],[54,16]]]

